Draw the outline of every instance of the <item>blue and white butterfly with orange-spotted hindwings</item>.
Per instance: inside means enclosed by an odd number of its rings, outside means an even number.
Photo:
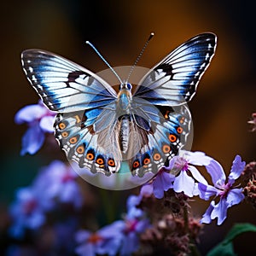
[[[214,55],[217,37],[202,33],[150,69],[131,92],[119,92],[96,73],[41,49],[21,54],[26,78],[49,110],[55,138],[81,168],[110,175],[127,161],[131,173],[158,172],[186,143],[191,117],[186,102]]]

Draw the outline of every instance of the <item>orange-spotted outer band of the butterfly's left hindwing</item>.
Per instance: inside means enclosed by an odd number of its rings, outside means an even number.
[[[55,119],[56,139],[67,154],[67,159],[76,161],[80,168],[93,173],[102,172],[107,176],[118,172],[120,161],[114,159],[113,153],[99,146],[101,133],[96,134],[93,125],[86,123],[89,116],[86,111],[58,113]]]

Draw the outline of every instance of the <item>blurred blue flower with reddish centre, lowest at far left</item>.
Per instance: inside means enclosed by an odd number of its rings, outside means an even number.
[[[12,217],[11,236],[20,238],[26,229],[37,230],[44,224],[44,207],[38,200],[34,188],[18,189],[16,201],[9,209]]]

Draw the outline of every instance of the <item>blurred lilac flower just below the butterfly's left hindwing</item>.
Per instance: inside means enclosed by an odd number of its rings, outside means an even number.
[[[51,207],[54,207],[54,201],[59,201],[79,208],[82,206],[83,198],[76,181],[78,176],[71,166],[55,160],[42,169],[34,181],[34,186],[40,191],[38,196],[42,201],[48,205],[52,202]]]

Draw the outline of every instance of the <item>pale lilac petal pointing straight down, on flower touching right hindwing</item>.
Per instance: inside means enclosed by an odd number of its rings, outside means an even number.
[[[173,189],[175,192],[184,192],[185,195],[189,197],[193,196],[193,191],[195,187],[195,181],[192,177],[189,177],[187,172],[180,172],[180,174],[175,178],[173,183]]]

